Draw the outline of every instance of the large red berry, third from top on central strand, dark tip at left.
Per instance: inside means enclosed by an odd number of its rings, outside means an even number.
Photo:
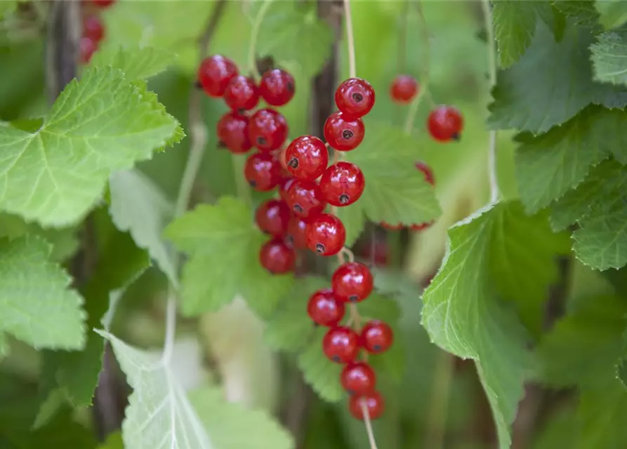
[[[322,140],[313,135],[303,135],[292,140],[285,150],[287,170],[300,180],[313,181],[329,163],[329,152]]]

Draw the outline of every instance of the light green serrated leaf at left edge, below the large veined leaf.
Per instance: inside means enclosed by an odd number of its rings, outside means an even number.
[[[68,276],[48,257],[45,241],[23,236],[0,239],[0,331],[36,349],[85,345],[83,300]]]

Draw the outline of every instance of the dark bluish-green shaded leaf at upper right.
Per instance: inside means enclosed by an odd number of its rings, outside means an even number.
[[[515,65],[499,72],[492,92],[494,102],[489,106],[489,126],[543,133],[591,103],[616,108],[627,105],[623,88],[593,81],[588,49],[592,41],[589,29],[570,26],[557,42],[539,20],[527,52]]]

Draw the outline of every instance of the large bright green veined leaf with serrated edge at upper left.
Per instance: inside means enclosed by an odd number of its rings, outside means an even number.
[[[0,208],[45,226],[81,220],[112,171],[150,159],[178,132],[155,99],[117,69],[90,69],[36,132],[1,126]]]

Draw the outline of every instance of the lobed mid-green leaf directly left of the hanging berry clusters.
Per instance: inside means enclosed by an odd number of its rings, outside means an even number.
[[[183,314],[217,311],[241,294],[257,314],[268,316],[291,287],[291,275],[272,276],[261,267],[267,237],[239,199],[223,196],[213,206],[198,206],[165,234],[191,256],[183,270]]]

